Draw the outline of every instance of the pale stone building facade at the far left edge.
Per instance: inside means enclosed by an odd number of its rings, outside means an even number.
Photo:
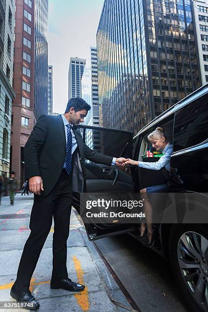
[[[0,1],[0,174],[5,178],[10,171],[10,140],[14,59],[14,0]]]

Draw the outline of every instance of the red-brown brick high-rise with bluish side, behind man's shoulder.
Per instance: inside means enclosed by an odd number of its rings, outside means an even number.
[[[24,182],[24,145],[48,107],[47,1],[41,3],[16,0],[11,164],[20,187]]]

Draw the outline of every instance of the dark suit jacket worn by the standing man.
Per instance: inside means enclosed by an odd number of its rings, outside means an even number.
[[[85,158],[111,166],[113,158],[90,149],[73,127],[77,148],[72,157],[72,191],[86,190]],[[41,176],[47,196],[56,185],[66,158],[66,136],[62,116],[40,116],[24,147],[25,178]]]

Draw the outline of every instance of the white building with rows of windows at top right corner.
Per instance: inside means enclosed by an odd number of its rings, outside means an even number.
[[[208,0],[193,0],[202,85],[208,82]]]

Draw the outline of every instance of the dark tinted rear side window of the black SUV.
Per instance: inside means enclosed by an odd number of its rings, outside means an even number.
[[[195,100],[175,114],[173,150],[194,146],[208,138],[208,95]]]

